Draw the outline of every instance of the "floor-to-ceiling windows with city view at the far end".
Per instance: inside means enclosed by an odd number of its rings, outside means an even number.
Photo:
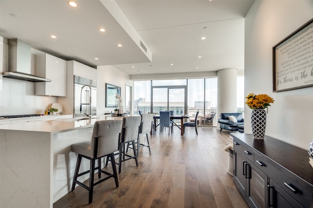
[[[244,110],[244,76],[238,76],[237,109]],[[216,126],[217,78],[134,81],[134,114],[170,110],[198,125]],[[152,111],[151,111],[152,110]]]

